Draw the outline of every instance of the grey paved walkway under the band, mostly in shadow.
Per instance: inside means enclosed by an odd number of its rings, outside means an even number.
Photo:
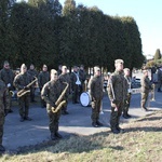
[[[162,93],[156,93],[156,102],[150,103],[151,110],[162,109]],[[37,145],[50,140],[49,118],[46,110],[40,108],[39,103],[31,104],[29,117],[32,121],[19,122],[18,105],[14,103],[14,112],[5,118],[3,145],[9,151],[16,151],[19,147]],[[91,135],[100,131],[109,130],[110,104],[107,95],[103,99],[103,111],[100,121],[105,124],[103,127],[92,127],[91,107],[82,107],[80,104],[73,105],[69,102],[68,116],[60,117],[59,131],[63,136],[71,134]],[[144,112],[140,110],[140,95],[132,96],[130,108],[131,120],[144,117],[152,111]],[[121,117],[121,124],[129,122]]]

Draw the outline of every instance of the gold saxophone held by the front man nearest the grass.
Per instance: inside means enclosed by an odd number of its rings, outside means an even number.
[[[64,91],[62,92],[60,96],[58,97],[58,99],[56,100],[55,105],[56,107],[52,107],[52,112],[56,113],[59,111],[59,109],[62,109],[62,107],[66,104],[66,100],[62,100],[63,97],[65,96],[66,91],[69,87],[69,84],[67,82],[63,82],[64,84],[66,84]]]

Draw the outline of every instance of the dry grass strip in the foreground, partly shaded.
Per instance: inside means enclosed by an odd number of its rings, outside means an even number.
[[[71,136],[53,146],[19,154],[3,154],[2,162],[160,162],[162,159],[162,111],[123,125],[125,133],[108,131]]]

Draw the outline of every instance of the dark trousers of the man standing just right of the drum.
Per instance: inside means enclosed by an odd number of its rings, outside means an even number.
[[[102,99],[96,99],[95,102],[92,102],[91,119],[92,122],[94,123],[96,123],[99,120],[100,105],[102,105]]]

